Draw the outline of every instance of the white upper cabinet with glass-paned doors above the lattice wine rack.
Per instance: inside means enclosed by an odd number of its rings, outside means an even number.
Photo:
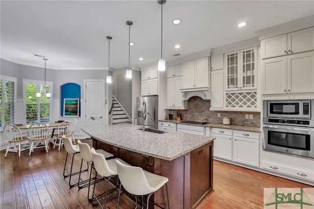
[[[225,54],[226,91],[257,88],[257,47]]]

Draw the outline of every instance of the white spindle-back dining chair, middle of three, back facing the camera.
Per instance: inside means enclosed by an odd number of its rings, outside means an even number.
[[[34,152],[36,148],[45,147],[46,152],[48,153],[48,141],[49,141],[49,129],[46,124],[43,123],[34,123],[28,128],[28,136],[31,141],[29,154]],[[44,143],[43,146],[42,142]]]

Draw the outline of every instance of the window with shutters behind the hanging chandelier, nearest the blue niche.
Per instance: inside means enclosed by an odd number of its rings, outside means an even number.
[[[46,81],[46,92],[43,81],[23,79],[23,86],[26,124],[50,122],[51,98],[47,98],[45,93],[52,93],[52,82]],[[40,92],[40,98],[36,97],[37,92]]]

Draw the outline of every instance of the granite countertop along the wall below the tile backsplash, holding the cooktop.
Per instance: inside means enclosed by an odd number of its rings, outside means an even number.
[[[183,121],[178,121],[178,120],[159,120],[162,122],[168,122],[168,123],[176,123],[180,124]],[[208,123],[208,124],[190,124],[190,123],[182,123],[186,125],[192,125],[192,126],[201,126],[201,127],[209,127],[209,128],[221,128],[221,129],[231,129],[231,130],[236,130],[236,131],[251,131],[251,132],[261,132],[261,128],[259,127],[250,127],[250,126],[235,126],[235,125],[224,125],[224,124],[219,124],[219,123]]]

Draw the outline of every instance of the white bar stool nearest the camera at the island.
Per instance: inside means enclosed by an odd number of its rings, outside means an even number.
[[[136,196],[142,196],[143,198],[144,195],[147,195],[146,208],[148,209],[149,198],[151,197],[152,194],[154,194],[154,192],[156,192],[164,184],[166,185],[168,209],[170,209],[168,187],[167,187],[167,182],[169,181],[168,178],[150,173],[148,171],[143,170],[140,167],[125,165],[118,160],[116,160],[116,163],[117,163],[118,177],[121,182],[120,188],[119,188],[117,209],[119,208],[121,186],[123,186],[123,188],[125,188],[125,190],[127,190],[130,194],[135,195],[136,207],[137,207]],[[143,201],[142,201],[142,204],[143,204]],[[157,205],[157,204],[154,203],[154,205]],[[159,205],[157,206],[159,208],[162,208]]]

